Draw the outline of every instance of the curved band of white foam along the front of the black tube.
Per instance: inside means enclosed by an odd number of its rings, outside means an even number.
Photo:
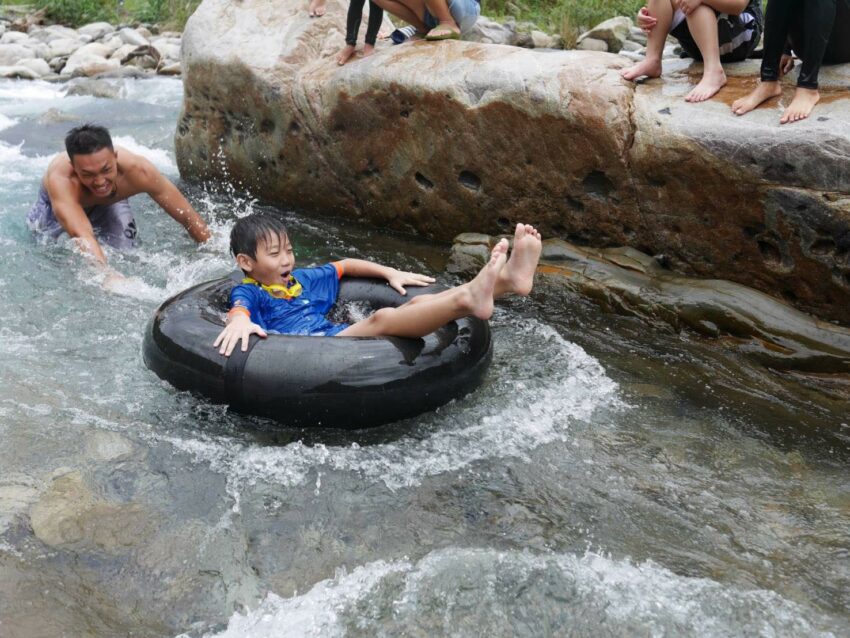
[[[432,415],[440,429],[423,439],[360,447],[308,446],[282,448],[236,445],[232,440],[181,439],[170,442],[210,463],[225,474],[231,489],[258,481],[283,486],[303,484],[313,470],[332,469],[360,474],[391,490],[418,485],[429,476],[462,470],[490,458],[527,458],[553,441],[567,440],[570,424],[588,419],[600,406],[617,404],[617,385],[596,359],[537,321],[512,326],[514,337],[530,344],[527,356],[509,355],[495,392],[501,405],[491,408],[487,397],[472,405],[454,402]],[[498,342],[497,342],[497,348]],[[535,352],[547,352],[557,366],[540,372]]]

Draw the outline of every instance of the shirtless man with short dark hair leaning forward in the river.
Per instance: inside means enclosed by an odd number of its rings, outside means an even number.
[[[149,160],[113,146],[109,131],[94,124],[68,132],[65,152],[47,167],[27,225],[50,238],[68,233],[106,266],[100,241],[118,249],[136,246],[136,221],[127,199],[138,193],[150,195],[196,242],[210,238],[206,223],[174,184]],[[111,271],[105,284],[120,277]]]

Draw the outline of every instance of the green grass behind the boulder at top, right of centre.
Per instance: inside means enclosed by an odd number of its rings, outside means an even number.
[[[560,33],[572,46],[582,31],[614,16],[634,18],[644,4],[645,0],[484,0],[482,12],[533,22],[543,31]]]

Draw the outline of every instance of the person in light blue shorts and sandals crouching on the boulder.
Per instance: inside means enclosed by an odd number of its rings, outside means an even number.
[[[401,18],[416,29],[412,37],[424,34],[426,40],[457,40],[467,33],[481,15],[479,0],[374,0],[384,11]],[[394,34],[402,33],[396,30]],[[398,43],[395,35],[393,41]]]

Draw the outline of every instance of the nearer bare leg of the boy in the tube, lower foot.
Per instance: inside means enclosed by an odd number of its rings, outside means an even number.
[[[455,319],[475,315],[489,319],[493,314],[493,293],[499,271],[505,263],[508,242],[500,241],[490,261],[475,279],[444,293],[429,295],[416,304],[382,308],[349,326],[338,337],[424,337]]]

